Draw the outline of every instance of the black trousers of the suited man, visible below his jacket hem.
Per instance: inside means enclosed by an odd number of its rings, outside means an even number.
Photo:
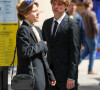
[[[66,88],[66,81],[65,82],[59,82],[59,81],[56,81],[56,86],[51,86],[50,87],[50,90],[68,90]],[[78,90],[78,84],[77,84],[77,80],[75,82],[75,88],[73,89],[70,89],[70,90]]]

